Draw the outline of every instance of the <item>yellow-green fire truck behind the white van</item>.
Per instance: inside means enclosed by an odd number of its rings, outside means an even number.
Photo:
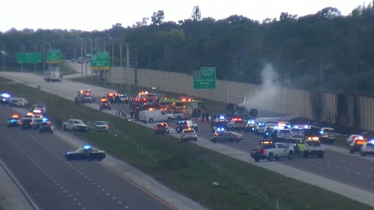
[[[191,114],[193,118],[199,118],[207,110],[203,101],[197,101],[189,97],[181,97],[180,99],[162,98],[158,102],[161,106],[172,106],[183,109]]]

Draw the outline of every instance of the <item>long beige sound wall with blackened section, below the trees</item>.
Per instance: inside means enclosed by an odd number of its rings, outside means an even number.
[[[135,84],[135,70],[113,67],[108,73],[107,82]],[[246,96],[256,99],[256,102],[249,102],[250,107],[374,130],[374,98],[283,87],[275,87],[269,91],[261,85],[225,80],[217,80],[215,90],[194,90],[192,84],[192,75],[137,69],[137,85],[140,87],[159,87],[166,92],[236,104],[242,103],[243,99],[230,95]],[[267,98],[269,95],[271,97]]]

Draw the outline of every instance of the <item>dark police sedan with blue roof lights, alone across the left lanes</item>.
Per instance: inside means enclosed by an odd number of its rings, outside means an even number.
[[[97,160],[101,161],[105,158],[105,152],[98,149],[94,149],[91,146],[84,146],[83,148],[77,149],[74,152],[67,152],[65,158],[70,160]]]

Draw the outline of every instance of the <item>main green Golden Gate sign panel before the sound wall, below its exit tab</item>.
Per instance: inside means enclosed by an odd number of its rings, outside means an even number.
[[[193,71],[193,89],[215,89],[215,71]]]

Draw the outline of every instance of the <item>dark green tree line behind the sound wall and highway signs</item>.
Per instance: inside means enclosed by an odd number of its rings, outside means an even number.
[[[128,43],[131,65],[139,68],[192,74],[200,67],[216,67],[218,79],[260,84],[264,64],[269,62],[283,86],[374,90],[373,3],[346,16],[326,7],[306,16],[282,12],[279,18],[262,22],[242,15],[215,20],[203,18],[202,13],[195,6],[190,18],[165,22],[163,10],[158,10],[132,26],[117,23],[103,31],[12,28],[0,33],[0,43],[5,45],[9,65],[15,64],[15,53],[21,49],[33,52],[35,43],[39,52],[43,43],[50,43],[67,59],[74,58],[75,43],[78,57],[81,42],[87,44],[87,53],[91,43],[92,50],[99,43],[100,51],[105,44],[112,53],[113,43],[113,62],[119,65],[121,41],[122,57],[126,58]]]

